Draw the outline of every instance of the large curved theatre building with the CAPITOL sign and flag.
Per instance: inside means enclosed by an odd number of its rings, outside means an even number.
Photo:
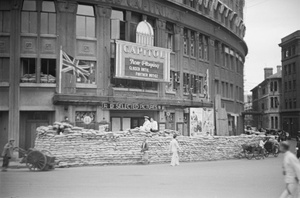
[[[29,148],[37,126],[65,118],[91,128],[105,120],[116,131],[148,115],[160,129],[190,135],[190,108],[213,104],[216,134],[226,134],[224,126],[238,134],[243,7],[244,0],[1,0],[0,147],[14,138]]]

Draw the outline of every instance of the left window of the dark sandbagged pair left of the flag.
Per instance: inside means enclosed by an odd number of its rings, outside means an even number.
[[[35,58],[21,58],[21,82],[36,83]]]

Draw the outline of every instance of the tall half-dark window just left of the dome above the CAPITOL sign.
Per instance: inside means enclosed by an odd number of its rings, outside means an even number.
[[[112,10],[111,11],[111,39],[125,40],[125,14],[123,11]]]

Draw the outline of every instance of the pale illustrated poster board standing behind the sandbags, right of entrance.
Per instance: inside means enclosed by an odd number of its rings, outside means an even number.
[[[190,108],[190,136],[214,135],[213,108]]]

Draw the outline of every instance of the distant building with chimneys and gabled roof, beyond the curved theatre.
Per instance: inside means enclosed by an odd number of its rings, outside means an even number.
[[[252,115],[253,126],[265,129],[281,129],[280,101],[281,101],[281,66],[273,74],[273,68],[265,68],[265,80],[253,88]]]

